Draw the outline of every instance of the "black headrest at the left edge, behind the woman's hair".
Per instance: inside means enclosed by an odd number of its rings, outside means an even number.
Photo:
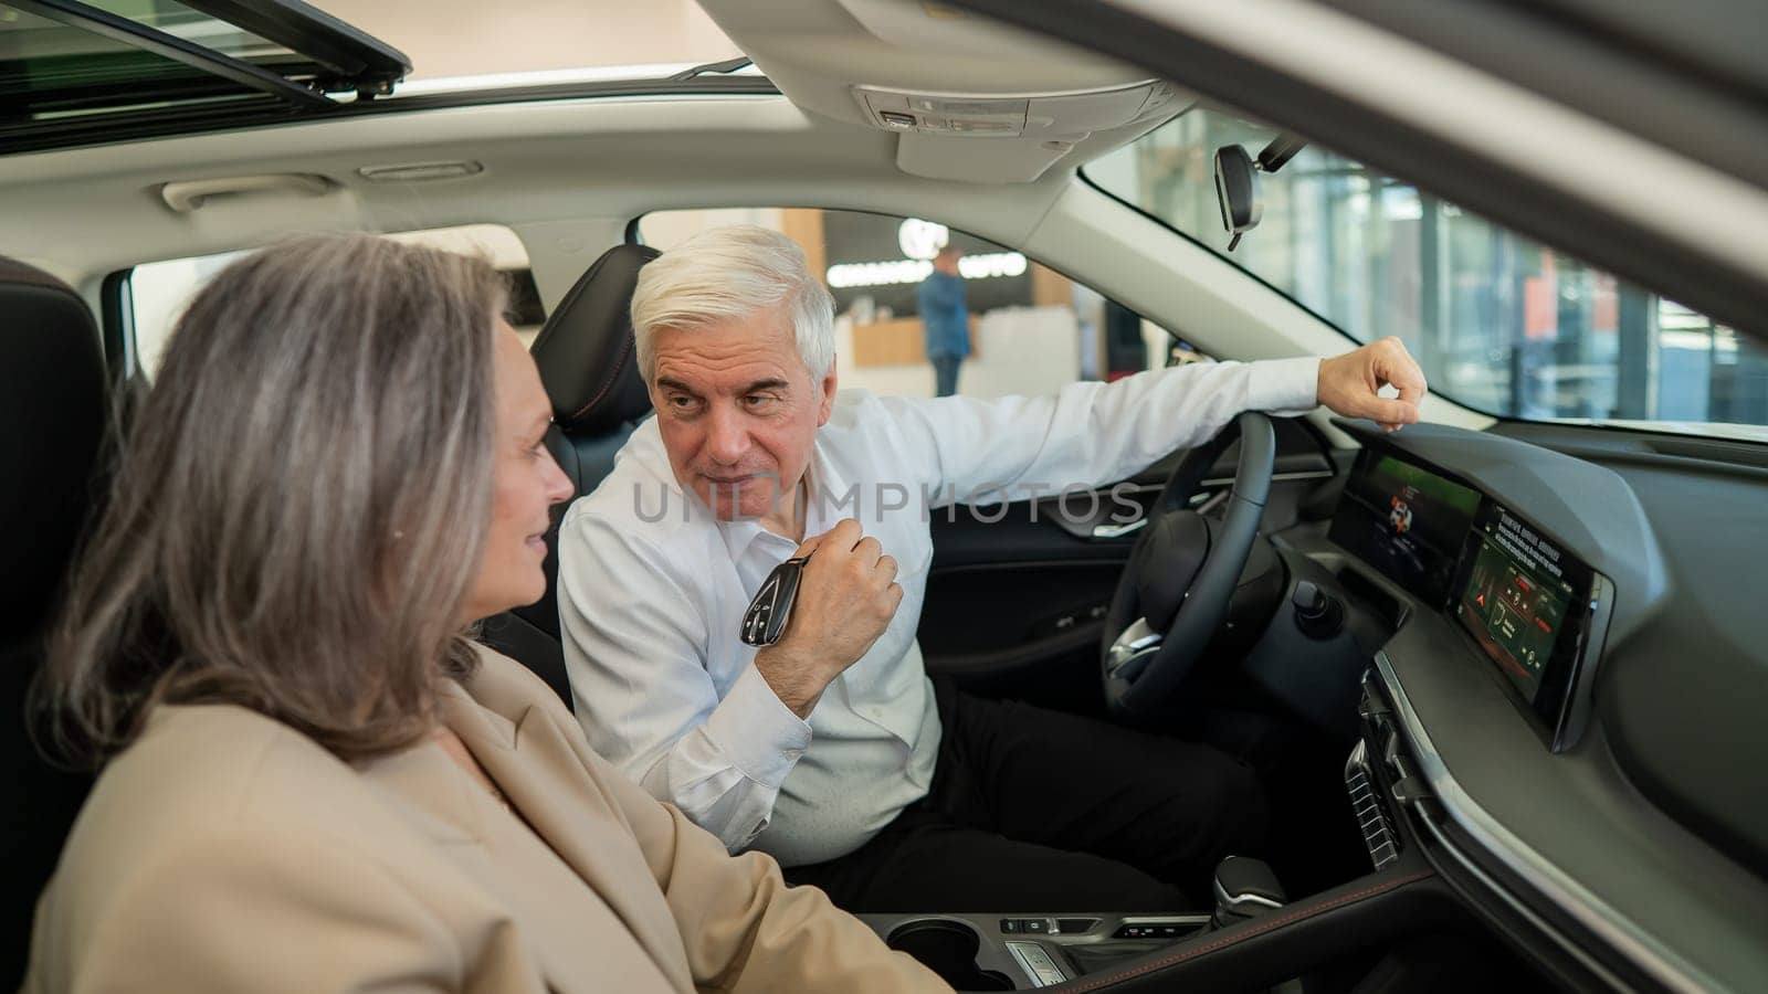
[[[37,631],[92,504],[104,435],[104,357],[65,283],[0,258],[0,642]]]

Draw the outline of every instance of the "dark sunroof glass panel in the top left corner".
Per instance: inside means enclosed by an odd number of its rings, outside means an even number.
[[[306,57],[175,0],[97,0],[85,7],[278,74],[311,71]],[[4,117],[44,119],[228,97],[267,99],[262,90],[210,71],[0,2]]]

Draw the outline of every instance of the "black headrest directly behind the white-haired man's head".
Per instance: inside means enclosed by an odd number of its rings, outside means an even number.
[[[613,246],[564,295],[534,338],[534,363],[568,433],[601,433],[651,410],[633,343],[638,269],[659,253]]]

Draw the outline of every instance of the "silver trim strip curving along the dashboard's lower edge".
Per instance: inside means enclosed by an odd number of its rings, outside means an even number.
[[[1556,904],[1579,925],[1589,929],[1602,941],[1609,943],[1616,952],[1630,959],[1644,973],[1665,987],[1673,990],[1688,990],[1690,994],[1720,990],[1720,987],[1711,978],[1704,976],[1697,967],[1664,948],[1657,939],[1634,925],[1634,921],[1619,911],[1589,893],[1582,884],[1554,867],[1545,856],[1529,849],[1526,842],[1499,824],[1497,819],[1494,819],[1466,791],[1462,791],[1460,784],[1455,782],[1455,776],[1448,771],[1448,766],[1437,753],[1436,745],[1430,741],[1430,734],[1425,732],[1423,722],[1418,720],[1418,713],[1413,709],[1411,699],[1406,697],[1406,688],[1400,686],[1400,677],[1393,672],[1393,661],[1388,660],[1386,653],[1376,653],[1376,672],[1381,674],[1381,683],[1386,686],[1388,697],[1393,700],[1393,715],[1406,730],[1406,738],[1414,757],[1418,759],[1420,773],[1430,784],[1437,803],[1443,805],[1443,810],[1448,812],[1455,824],[1459,824],[1494,856],[1503,860],[1513,874],[1540,891],[1542,897]],[[1478,872],[1478,867],[1475,867],[1464,854],[1457,853],[1453,845],[1446,845],[1446,849],[1455,854],[1457,860],[1467,863],[1475,872]],[[1505,893],[1503,888],[1496,884],[1494,891],[1499,895]]]

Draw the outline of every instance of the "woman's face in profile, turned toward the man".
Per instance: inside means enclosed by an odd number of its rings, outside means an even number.
[[[479,577],[467,593],[467,621],[477,621],[546,594],[548,509],[569,501],[571,479],[546,451],[552,401],[534,359],[504,322],[497,322],[497,453],[492,479],[492,527]]]

